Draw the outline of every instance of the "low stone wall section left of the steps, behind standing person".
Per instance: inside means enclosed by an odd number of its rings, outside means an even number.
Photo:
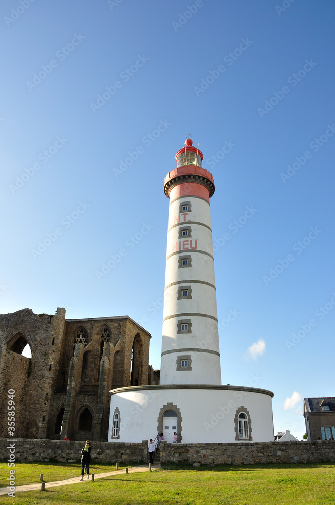
[[[14,447],[13,447],[14,444]],[[81,457],[85,442],[62,440],[38,440],[21,438],[8,441],[0,438],[0,460],[8,461],[15,456],[16,462],[29,461],[66,461],[75,462]],[[8,448],[10,447],[11,448]],[[146,462],[148,459],[148,441],[142,443],[92,442],[92,460],[94,463],[122,464]],[[13,452],[15,449],[15,452]]]

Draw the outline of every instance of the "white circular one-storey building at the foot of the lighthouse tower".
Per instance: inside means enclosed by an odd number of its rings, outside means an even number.
[[[272,442],[272,397],[266,389],[157,385],[110,391],[109,442]]]

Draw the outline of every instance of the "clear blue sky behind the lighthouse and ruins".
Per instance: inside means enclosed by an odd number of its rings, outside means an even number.
[[[159,368],[163,182],[190,131],[216,188],[222,383],[256,377],[301,438],[301,398],[335,386],[334,12],[3,2],[1,312],[129,315]]]

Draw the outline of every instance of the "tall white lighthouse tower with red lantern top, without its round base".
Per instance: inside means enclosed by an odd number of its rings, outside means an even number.
[[[221,384],[211,173],[190,138],[165,177],[170,199],[160,384]]]

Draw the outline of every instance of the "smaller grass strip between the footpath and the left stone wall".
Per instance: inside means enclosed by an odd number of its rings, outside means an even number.
[[[122,469],[125,467],[119,467]],[[90,473],[113,472],[115,465],[96,464],[90,465]],[[8,468],[7,463],[0,463],[0,487],[7,487],[7,477],[9,471],[15,470],[15,481],[17,486],[24,484],[35,484],[39,482],[39,476],[42,473],[45,482],[54,480],[71,479],[71,477],[80,477],[81,463],[16,463],[15,468]],[[1,503],[1,498],[0,498]]]

